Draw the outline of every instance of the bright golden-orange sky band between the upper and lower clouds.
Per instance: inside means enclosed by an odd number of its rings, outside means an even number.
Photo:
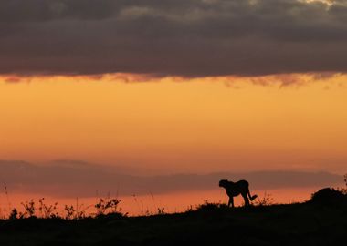
[[[344,75],[0,77],[0,159],[343,172],[345,81]]]

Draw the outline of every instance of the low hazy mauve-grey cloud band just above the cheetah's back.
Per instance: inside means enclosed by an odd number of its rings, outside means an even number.
[[[258,171],[244,173],[142,176],[131,169],[64,160],[37,166],[24,161],[0,161],[0,181],[14,192],[47,196],[91,197],[95,190],[120,195],[160,194],[182,190],[211,190],[219,179],[247,179],[254,190],[339,185],[342,176],[328,172]]]

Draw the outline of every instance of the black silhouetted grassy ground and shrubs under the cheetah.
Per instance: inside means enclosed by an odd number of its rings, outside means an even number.
[[[139,217],[120,213],[121,201],[110,199],[100,200],[95,214],[80,218],[75,218],[76,208],[50,216],[56,214],[49,209],[54,204],[35,202],[32,213],[29,200],[25,217],[0,220],[0,245],[345,245],[346,198],[339,190],[318,191],[308,202],[255,202],[236,209],[206,200],[182,213],[161,210]],[[40,213],[39,206],[52,212]]]

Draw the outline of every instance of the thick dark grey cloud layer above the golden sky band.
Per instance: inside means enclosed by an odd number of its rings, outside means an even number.
[[[347,1],[2,0],[0,74],[347,72]]]

